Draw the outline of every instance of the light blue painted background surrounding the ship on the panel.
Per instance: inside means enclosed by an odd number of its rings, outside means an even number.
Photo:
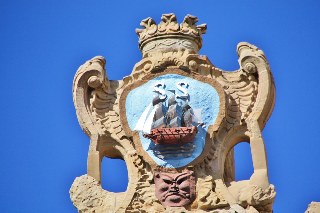
[[[141,143],[144,154],[151,157],[158,166],[180,168],[192,163],[203,152],[207,153],[209,150],[204,151],[204,147],[208,141],[206,140],[208,127],[216,123],[221,106],[221,95],[219,96],[216,88],[212,84],[179,74],[164,74],[144,82],[129,91],[125,97],[126,120],[131,131],[139,134],[138,142]],[[155,111],[153,109],[157,104],[153,105],[152,100],[157,95],[163,99],[161,103],[164,115],[169,109],[168,100],[172,96],[175,97],[178,105],[183,105],[188,100],[191,109],[201,111],[198,115],[199,121],[192,124],[198,128],[193,143],[157,145],[142,136],[142,129],[139,130],[137,126],[139,123],[140,126],[141,123],[146,123],[150,116],[153,117],[152,113]],[[179,116],[181,117],[181,113]]]

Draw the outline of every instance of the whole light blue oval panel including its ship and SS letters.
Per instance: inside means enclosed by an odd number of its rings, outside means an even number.
[[[134,82],[119,103],[125,103],[120,118],[138,155],[164,168],[199,162],[208,153],[212,140],[207,131],[221,104],[214,80],[178,69],[172,72],[181,74],[150,73]]]

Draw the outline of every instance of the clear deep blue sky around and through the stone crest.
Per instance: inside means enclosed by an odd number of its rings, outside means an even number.
[[[101,55],[110,80],[129,75],[141,60],[135,28],[171,12],[207,24],[200,54],[220,69],[239,68],[238,42],[264,51],[276,84],[263,130],[274,212],[320,202],[319,11],[319,1],[1,1],[1,211],[77,212],[69,188],[86,174],[90,140],[72,101],[76,70]],[[248,148],[235,150],[238,180],[252,173]],[[123,162],[102,169],[105,189],[125,191]]]

